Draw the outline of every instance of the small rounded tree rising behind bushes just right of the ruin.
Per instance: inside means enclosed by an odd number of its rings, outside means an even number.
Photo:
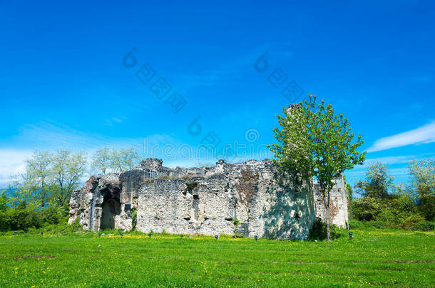
[[[372,163],[366,171],[366,178],[355,185],[359,194],[364,197],[386,199],[389,197],[394,177],[389,174],[387,165],[380,162]]]

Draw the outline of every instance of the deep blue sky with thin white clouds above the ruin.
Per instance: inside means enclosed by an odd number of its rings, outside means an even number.
[[[380,160],[404,181],[411,159],[435,156],[434,8],[431,1],[1,1],[0,186],[35,149],[159,145],[143,156],[192,166],[215,160],[186,157],[180,146],[195,151],[212,137],[218,149],[245,145],[240,159],[265,158],[246,151],[274,141],[275,115],[292,102],[281,92],[292,82],[298,100],[316,94],[349,117],[367,163]],[[133,48],[135,65],[126,68]],[[261,55],[264,72],[255,69]],[[143,65],[153,70],[145,83],[136,76],[145,75]],[[161,99],[151,91],[160,77],[171,87]],[[174,92],[186,103],[177,113]],[[364,167],[346,175],[352,182]]]

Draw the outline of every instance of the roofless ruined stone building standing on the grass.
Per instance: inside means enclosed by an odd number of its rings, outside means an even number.
[[[121,174],[92,176],[73,192],[69,223],[86,230],[120,228],[148,233],[243,235],[305,239],[324,220],[319,187],[279,171],[272,161],[170,169],[146,159]],[[342,178],[331,197],[332,223],[347,225]]]

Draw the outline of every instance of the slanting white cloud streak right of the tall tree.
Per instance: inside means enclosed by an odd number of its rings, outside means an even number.
[[[417,129],[378,139],[368,152],[382,151],[411,144],[435,142],[435,121]]]

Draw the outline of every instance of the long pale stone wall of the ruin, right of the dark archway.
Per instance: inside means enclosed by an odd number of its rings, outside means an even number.
[[[272,161],[218,164],[204,176],[143,183],[137,229],[180,234],[240,234],[305,239],[314,222],[311,186]]]

